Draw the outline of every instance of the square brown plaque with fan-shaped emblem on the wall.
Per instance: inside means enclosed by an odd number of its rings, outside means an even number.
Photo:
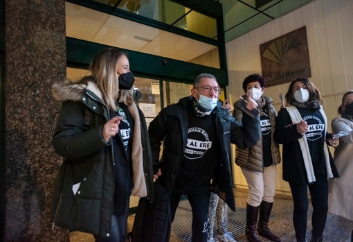
[[[311,77],[305,26],[260,44],[260,56],[266,87]]]

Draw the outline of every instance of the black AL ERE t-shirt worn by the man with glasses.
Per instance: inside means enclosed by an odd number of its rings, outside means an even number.
[[[196,116],[189,106],[188,122],[188,144],[174,187],[174,193],[178,194],[194,194],[210,189],[210,179],[219,157],[215,114]]]

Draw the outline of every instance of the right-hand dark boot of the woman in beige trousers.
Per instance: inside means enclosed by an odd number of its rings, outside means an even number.
[[[269,230],[269,227],[268,227],[272,205],[273,205],[273,202],[265,202],[265,201],[261,202],[260,218],[259,218],[259,223],[257,224],[257,232],[259,232],[260,236],[264,236],[266,239],[269,239],[270,241],[280,242],[281,239],[275,234],[272,234],[272,232]]]

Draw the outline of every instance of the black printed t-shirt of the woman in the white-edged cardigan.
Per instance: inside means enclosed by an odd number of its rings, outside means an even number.
[[[298,107],[298,111],[302,120],[306,121],[309,126],[307,132],[305,132],[305,137],[309,146],[314,174],[325,174],[325,155],[323,153],[325,121],[323,116],[320,110],[306,110]]]

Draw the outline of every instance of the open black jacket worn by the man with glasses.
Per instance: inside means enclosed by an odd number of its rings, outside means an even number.
[[[179,103],[165,107],[150,123],[149,134],[154,162],[154,171],[161,167],[161,184],[172,193],[188,141],[188,105],[192,97],[181,98]],[[243,124],[235,120],[219,102],[215,107],[215,129],[221,155],[212,180],[212,190],[235,210],[233,183],[230,173],[230,143],[242,148],[251,147],[260,139],[260,119],[253,110],[255,120],[244,114]],[[163,141],[163,156],[159,163],[159,152]]]

